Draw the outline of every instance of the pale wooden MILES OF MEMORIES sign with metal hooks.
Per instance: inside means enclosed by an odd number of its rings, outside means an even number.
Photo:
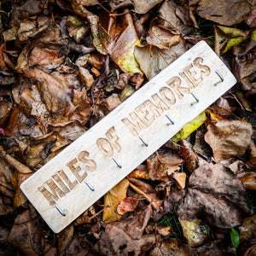
[[[201,41],[20,188],[60,232],[234,84],[229,69]]]

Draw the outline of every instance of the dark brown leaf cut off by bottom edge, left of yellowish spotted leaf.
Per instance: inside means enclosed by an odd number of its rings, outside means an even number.
[[[149,256],[195,256],[197,253],[187,244],[183,244],[177,238],[169,238],[168,240],[158,241],[157,247],[154,247]]]

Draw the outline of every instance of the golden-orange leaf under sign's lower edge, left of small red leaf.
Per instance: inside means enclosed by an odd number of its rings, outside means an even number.
[[[122,218],[117,212],[117,207],[121,201],[126,198],[126,191],[129,186],[129,181],[127,178],[116,184],[113,189],[110,189],[108,193],[104,196],[104,207],[108,207],[103,212],[103,221],[115,221]]]

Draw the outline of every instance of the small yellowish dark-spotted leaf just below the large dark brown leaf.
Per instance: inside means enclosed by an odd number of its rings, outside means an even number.
[[[200,219],[196,221],[179,219],[179,223],[183,228],[183,236],[187,239],[190,247],[201,246],[209,240],[210,229]]]

